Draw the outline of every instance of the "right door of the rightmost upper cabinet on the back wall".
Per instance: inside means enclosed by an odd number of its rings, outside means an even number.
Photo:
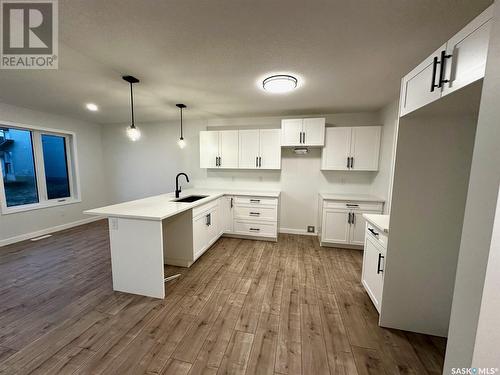
[[[362,126],[352,128],[352,170],[378,170],[381,129],[382,128],[380,126]]]

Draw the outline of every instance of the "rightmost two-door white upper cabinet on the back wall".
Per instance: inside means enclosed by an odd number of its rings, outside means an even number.
[[[380,126],[327,128],[321,169],[378,170],[381,129]]]

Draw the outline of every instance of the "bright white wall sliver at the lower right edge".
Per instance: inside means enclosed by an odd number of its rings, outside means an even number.
[[[499,191],[500,193],[500,191]],[[500,368],[500,199],[497,200],[472,367]]]

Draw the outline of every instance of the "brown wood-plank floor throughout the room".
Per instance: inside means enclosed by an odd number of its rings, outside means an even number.
[[[1,374],[441,374],[445,340],[378,327],[362,253],[223,238],[165,300],[113,292],[106,221],[0,248]]]

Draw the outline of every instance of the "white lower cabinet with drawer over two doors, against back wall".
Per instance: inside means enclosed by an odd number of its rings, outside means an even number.
[[[383,202],[320,201],[321,245],[363,247],[365,219],[363,214],[383,211]]]

